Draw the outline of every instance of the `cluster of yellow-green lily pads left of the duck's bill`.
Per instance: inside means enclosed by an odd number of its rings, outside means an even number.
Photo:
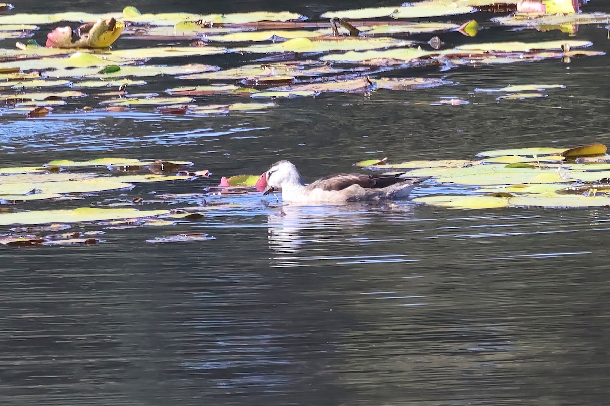
[[[174,183],[207,178],[209,170],[191,171],[186,161],[140,161],[126,158],[102,158],[92,161],[51,161],[39,167],[0,168],[0,204],[15,205],[47,201],[59,205],[62,201],[104,197],[108,192],[131,191],[145,183]],[[173,175],[168,172],[177,171]],[[258,178],[258,177],[256,177]],[[104,229],[124,229],[141,226],[174,226],[179,222],[202,219],[210,209],[231,207],[228,203],[207,202],[210,195],[251,194],[252,179],[248,175],[221,178],[218,186],[208,186],[199,194],[155,194],[154,198],[118,198],[102,206],[81,206],[76,209],[15,210],[0,213],[0,226],[24,225],[11,228],[10,234],[0,235],[0,245],[29,247],[33,245],[91,245],[102,242],[97,236],[105,231],[68,231],[71,223],[95,223]],[[181,205],[187,203],[187,206]],[[162,206],[162,209],[138,209],[142,205]],[[167,208],[168,205],[178,205]],[[48,226],[38,226],[52,223]],[[207,234],[179,234],[155,237],[149,242],[179,242],[213,239]]]

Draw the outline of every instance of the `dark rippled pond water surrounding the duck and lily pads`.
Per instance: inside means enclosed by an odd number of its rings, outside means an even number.
[[[123,7],[15,5],[21,12]],[[315,16],[355,5],[143,1],[138,7]],[[610,6],[592,0],[585,11]],[[561,38],[568,36],[492,27],[476,40]],[[576,39],[608,51],[603,26],[582,26]],[[239,56],[222,58],[239,65]],[[220,175],[261,173],[281,158],[314,180],[365,158],[472,159],[501,147],[608,143],[609,61],[411,69],[395,74],[444,75],[458,83],[279,100],[262,113],[0,116],[0,165],[123,156],[184,159],[215,173],[210,180],[138,186],[126,192],[132,198],[201,192]],[[177,86],[147,80],[146,91]],[[530,101],[473,93],[531,83],[567,87]],[[447,96],[470,103],[430,105]],[[117,194],[85,203],[113,200]],[[232,201],[239,204],[197,222],[107,229],[107,242],[91,247],[3,248],[0,404],[608,405],[608,209],[460,211],[408,201],[282,208],[273,197],[256,195]],[[145,242],[180,233],[216,239]]]

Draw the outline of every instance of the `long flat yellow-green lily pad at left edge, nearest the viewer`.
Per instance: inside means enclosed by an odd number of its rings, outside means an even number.
[[[0,213],[0,225],[36,225],[46,223],[98,222],[101,220],[132,219],[168,214],[169,210],[137,210],[134,208],[90,208],[64,210],[21,211]]]

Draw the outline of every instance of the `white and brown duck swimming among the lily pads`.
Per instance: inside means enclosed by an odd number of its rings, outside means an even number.
[[[404,173],[404,172],[403,172]],[[263,195],[281,189],[282,201],[300,204],[346,203],[350,201],[388,201],[406,198],[419,183],[431,177],[400,177],[403,173],[365,175],[338,173],[306,184],[290,161],[278,161],[259,181]]]

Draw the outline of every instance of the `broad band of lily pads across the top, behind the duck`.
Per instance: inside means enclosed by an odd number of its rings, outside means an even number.
[[[8,11],[12,5],[0,3],[0,11],[5,12],[0,15],[0,38],[37,38],[39,26],[59,21],[82,23],[77,28],[53,30],[46,38],[46,47],[30,40],[17,43],[17,49],[0,49],[0,101],[5,105],[1,112],[41,117],[66,111],[66,105],[73,111],[73,103],[77,103],[77,110],[83,112],[156,107],[167,114],[228,114],[276,106],[276,102],[267,101],[270,99],[452,84],[442,77],[392,76],[393,70],[412,66],[447,70],[547,58],[568,61],[603,54],[584,49],[592,44],[590,41],[573,38],[464,43],[443,48],[436,36],[429,41],[417,37],[451,31],[465,38],[474,36],[480,28],[475,20],[463,24],[421,20],[470,16],[479,10],[502,13],[492,20],[493,24],[564,32],[573,32],[574,28],[568,27],[578,24],[598,24],[608,19],[602,13],[577,13],[578,0],[523,1],[424,0],[408,7],[323,13],[322,21],[309,21],[292,12],[143,14],[133,6],[103,14],[13,13]],[[520,7],[528,12],[519,12]],[[540,12],[532,13],[532,9]],[[71,38],[73,29],[79,35],[76,41]],[[121,38],[185,42],[181,46],[132,49]],[[109,48],[111,44],[113,49]],[[226,69],[184,63],[185,58],[201,56],[212,61],[215,55],[229,52],[252,55],[256,61]],[[171,58],[174,65],[157,65],[159,58]],[[165,90],[165,95],[158,89],[141,90],[157,75],[173,77],[177,85]],[[219,95],[224,97],[222,103],[217,99],[213,104],[205,102]],[[511,89],[499,99],[544,96]],[[232,100],[234,97],[253,100]],[[456,104],[454,100],[450,103]]]

